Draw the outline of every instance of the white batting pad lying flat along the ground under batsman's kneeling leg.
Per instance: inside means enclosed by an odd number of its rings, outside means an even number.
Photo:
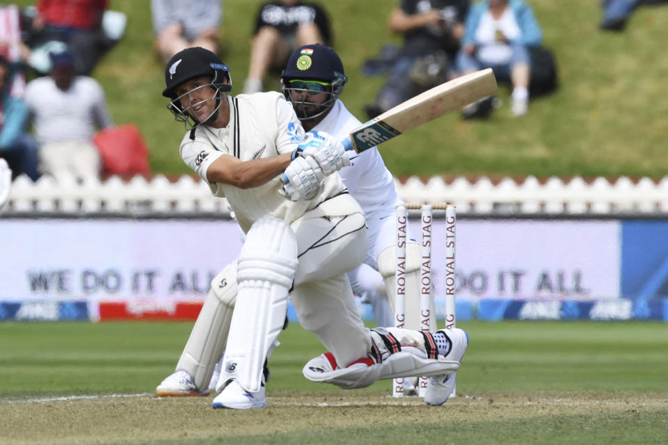
[[[445,359],[428,359],[422,350],[403,346],[382,363],[370,360],[356,362],[338,369],[329,354],[310,359],[302,369],[305,378],[312,382],[331,383],[342,389],[364,388],[378,380],[412,377],[413,375],[442,375],[454,373],[459,362]]]

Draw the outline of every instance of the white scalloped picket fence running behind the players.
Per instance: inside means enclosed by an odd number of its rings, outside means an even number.
[[[395,179],[397,191],[406,202],[432,204],[452,202],[457,213],[470,216],[543,215],[543,216],[665,216],[668,214],[668,177],[631,180],[598,177],[585,181],[580,177],[535,177],[522,180],[488,177],[446,181],[431,177],[424,181],[410,177]],[[150,180],[137,176],[129,181],[111,177],[106,181],[77,184],[56,182],[42,177],[33,183],[18,177],[12,184],[10,198],[1,211],[4,215],[40,214],[77,215],[110,213],[120,215],[168,216],[194,214],[229,214],[227,203],[214,197],[204,181],[190,176],[170,181],[157,175]]]

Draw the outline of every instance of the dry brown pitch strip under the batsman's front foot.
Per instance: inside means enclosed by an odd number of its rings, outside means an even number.
[[[665,393],[459,395],[443,407],[425,407],[419,398],[394,399],[354,391],[285,393],[269,394],[267,409],[250,411],[213,410],[211,401],[212,396],[156,398],[149,394],[4,400],[0,401],[0,444],[194,443],[216,437],[233,443],[254,436],[260,439],[258,443],[266,443],[267,437],[285,441],[291,435],[318,430],[334,435],[330,443],[355,443],[349,430],[368,426],[410,424],[419,434],[422,425],[430,428],[446,422],[472,428],[499,422],[537,425],[560,417],[587,423],[619,416],[642,419],[644,415],[664,419],[659,422],[668,430]],[[345,434],[351,434],[349,441],[342,436]],[[443,438],[440,443],[448,442]]]

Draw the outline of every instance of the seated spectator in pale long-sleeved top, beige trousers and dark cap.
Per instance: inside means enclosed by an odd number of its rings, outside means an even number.
[[[100,83],[74,73],[70,51],[51,55],[51,74],[28,83],[26,103],[35,129],[42,174],[56,179],[100,175],[100,154],[93,145],[96,126],[113,126]]]

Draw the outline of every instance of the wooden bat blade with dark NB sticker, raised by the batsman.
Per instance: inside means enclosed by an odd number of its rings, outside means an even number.
[[[493,95],[498,90],[491,68],[472,72],[422,92],[351,131],[342,140],[358,153],[419,127],[453,110]]]

